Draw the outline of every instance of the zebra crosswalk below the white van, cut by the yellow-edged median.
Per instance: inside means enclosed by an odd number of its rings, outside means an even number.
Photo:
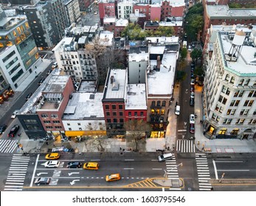
[[[179,164],[177,164],[176,162],[175,154],[173,154],[172,160],[165,160],[165,165],[166,165],[167,179],[179,180],[179,172],[178,172]],[[169,190],[181,191],[181,188],[169,188]]]

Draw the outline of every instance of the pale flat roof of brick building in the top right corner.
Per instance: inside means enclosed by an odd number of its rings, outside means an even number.
[[[227,5],[206,5],[206,10],[210,18],[256,18],[255,9],[230,9]]]

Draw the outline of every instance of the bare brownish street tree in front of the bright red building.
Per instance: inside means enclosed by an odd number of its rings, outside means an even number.
[[[152,130],[151,126],[142,119],[126,121],[124,128],[126,129],[127,141],[135,143],[135,152],[139,151],[139,143],[145,144],[145,136]]]

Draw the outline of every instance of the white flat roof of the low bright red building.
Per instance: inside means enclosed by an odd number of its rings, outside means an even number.
[[[147,110],[145,84],[127,85],[125,110]]]

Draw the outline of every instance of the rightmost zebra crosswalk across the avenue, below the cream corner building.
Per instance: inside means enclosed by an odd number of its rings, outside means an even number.
[[[210,170],[206,154],[196,153],[196,167],[198,173],[199,191],[210,191],[212,188],[210,180]]]

